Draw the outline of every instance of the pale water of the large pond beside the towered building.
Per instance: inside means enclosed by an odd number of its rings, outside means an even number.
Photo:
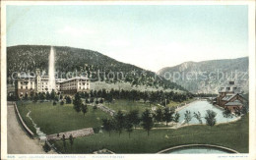
[[[185,118],[184,114],[186,111],[190,111],[191,116],[192,116],[192,120],[189,122],[189,124],[193,124],[193,125],[200,124],[199,121],[195,117],[193,117],[194,112],[197,113],[198,111],[201,113],[203,124],[206,124],[206,120],[204,117],[206,115],[207,110],[213,110],[217,113],[217,115],[216,115],[217,124],[231,122],[238,118],[236,116],[233,116],[232,118],[224,118],[224,115],[223,115],[224,109],[218,108],[206,100],[202,100],[202,101],[194,101],[194,102],[188,104],[187,107],[178,111],[178,113],[180,114],[179,124],[184,123],[184,118]]]

